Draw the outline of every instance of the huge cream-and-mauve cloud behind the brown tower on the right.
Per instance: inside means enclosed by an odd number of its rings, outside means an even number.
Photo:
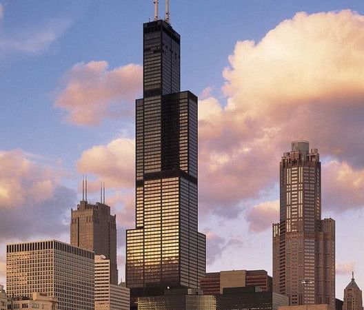
[[[345,162],[361,187],[363,16],[350,10],[297,13],[257,43],[236,43],[229,61],[223,71],[226,103],[212,97],[199,103],[199,198],[205,215],[232,218],[249,199],[265,200],[279,182],[281,155],[301,137],[323,159]],[[334,188],[325,182],[323,191]],[[350,205],[363,206],[361,195]]]

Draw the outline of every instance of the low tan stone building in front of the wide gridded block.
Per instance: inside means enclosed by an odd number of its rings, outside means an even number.
[[[8,300],[8,309],[45,309],[57,310],[57,298],[49,297],[45,293],[33,293],[32,298],[10,298]]]

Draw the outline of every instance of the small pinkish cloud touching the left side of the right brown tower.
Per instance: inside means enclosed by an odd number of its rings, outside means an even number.
[[[279,200],[265,201],[247,210],[245,219],[249,230],[261,232],[272,229],[272,223],[279,221]]]

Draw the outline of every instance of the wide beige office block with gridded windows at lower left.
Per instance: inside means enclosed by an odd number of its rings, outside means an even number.
[[[6,246],[8,296],[45,293],[60,310],[94,310],[94,252],[56,240]]]

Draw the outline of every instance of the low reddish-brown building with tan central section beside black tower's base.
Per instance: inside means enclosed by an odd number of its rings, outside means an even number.
[[[223,293],[223,289],[228,287],[251,286],[272,291],[272,277],[265,270],[231,270],[209,272],[201,279],[201,289],[205,295]]]

